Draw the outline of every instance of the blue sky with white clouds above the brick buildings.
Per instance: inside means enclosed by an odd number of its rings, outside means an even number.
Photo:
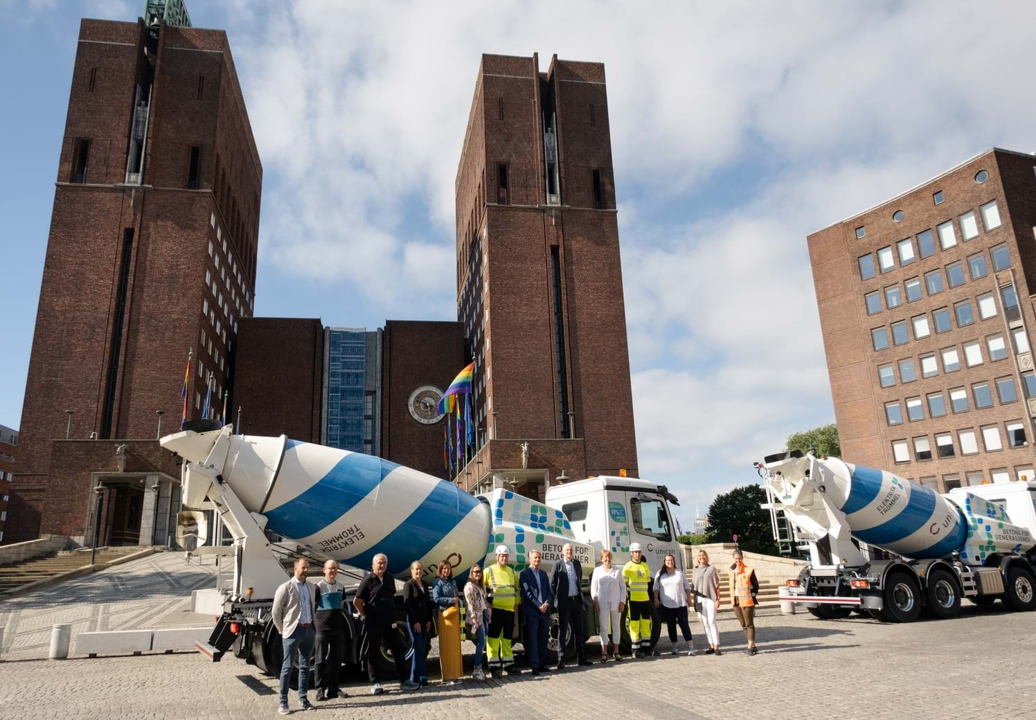
[[[0,424],[21,421],[79,20],[143,7],[0,0]],[[685,525],[833,420],[806,235],[995,145],[1036,149],[1030,3],[188,8],[228,30],[264,166],[256,314],[332,325],[455,319],[481,53],[605,63],[640,470]]]

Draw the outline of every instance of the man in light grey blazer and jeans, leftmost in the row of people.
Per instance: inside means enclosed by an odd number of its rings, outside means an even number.
[[[316,588],[306,581],[310,572],[310,561],[305,557],[295,560],[294,576],[277,588],[274,594],[274,625],[281,633],[284,661],[281,663],[281,705],[277,712],[287,715],[288,684],[291,679],[291,661],[298,654],[298,704],[303,710],[314,710],[306,697],[310,679],[310,656],[313,655],[313,640],[316,633],[313,618],[316,616]]]

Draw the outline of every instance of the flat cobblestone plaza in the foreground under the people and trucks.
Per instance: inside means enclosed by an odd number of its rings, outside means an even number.
[[[525,668],[517,678],[459,686],[433,682],[415,693],[399,693],[392,684],[380,697],[350,679],[345,689],[354,696],[321,703],[313,716],[994,720],[1031,718],[1036,709],[1036,612],[966,603],[952,621],[881,625],[771,609],[757,621],[761,652],[755,657],[741,652],[744,637],[732,618],[719,626],[726,649],[719,658],[661,656],[540,678]],[[698,628],[693,630],[700,643]],[[663,652],[667,646],[660,643]],[[436,661],[429,669],[437,672]],[[291,702],[297,708],[294,693]],[[237,720],[271,718],[276,711],[276,680],[233,657],[218,664],[197,653],[0,662],[2,719]]]

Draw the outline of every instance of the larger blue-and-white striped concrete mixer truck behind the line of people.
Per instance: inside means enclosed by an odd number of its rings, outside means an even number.
[[[384,553],[388,571],[398,578],[407,576],[412,560],[421,560],[426,578],[448,563],[454,576],[464,579],[474,563],[493,563],[492,550],[500,543],[512,549],[516,569],[537,549],[549,572],[563,546],[571,543],[583,568],[587,608],[589,575],[603,548],[622,565],[629,559],[630,543],[638,542],[653,569],[661,567],[666,552],[684,567],[669,509],[677,498],[645,480],[599,477],[568,483],[549,488],[541,502],[503,488],[476,497],[377,457],[283,435],[234,435],[229,426],[186,430],[161,442],[183,458],[186,510],[177,518],[177,538],[186,542],[209,535],[203,511],[217,516],[232,537],[227,546],[193,548],[198,554],[223,556],[217,586],[195,592],[194,611],[218,618],[209,641],[199,643],[199,650],[219,660],[233,649],[267,674],[280,671],[281,639],[269,611],[276,588],[288,578],[269,534],[294,541],[319,556],[315,559],[329,557],[359,570],[369,569],[376,553]],[[347,592],[347,608],[351,599]],[[403,620],[402,600],[397,601]],[[596,614],[587,612],[586,618],[587,636],[593,636],[598,633]],[[356,616],[346,613],[346,621],[345,662],[358,666],[363,628]],[[659,625],[655,617],[652,647]],[[399,627],[408,644],[405,622]],[[520,641],[522,628],[515,633]],[[556,637],[552,627],[554,651]],[[629,647],[625,632],[624,644]],[[379,661],[384,674],[391,674],[387,645]]]

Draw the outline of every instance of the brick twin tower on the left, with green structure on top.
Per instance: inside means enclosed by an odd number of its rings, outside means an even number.
[[[192,349],[189,420],[206,383],[219,416],[252,315],[262,166],[227,35],[179,0],[147,9],[80,26],[7,542],[90,542],[98,486],[102,542],[164,542],[178,471],[157,425],[179,426]]]

